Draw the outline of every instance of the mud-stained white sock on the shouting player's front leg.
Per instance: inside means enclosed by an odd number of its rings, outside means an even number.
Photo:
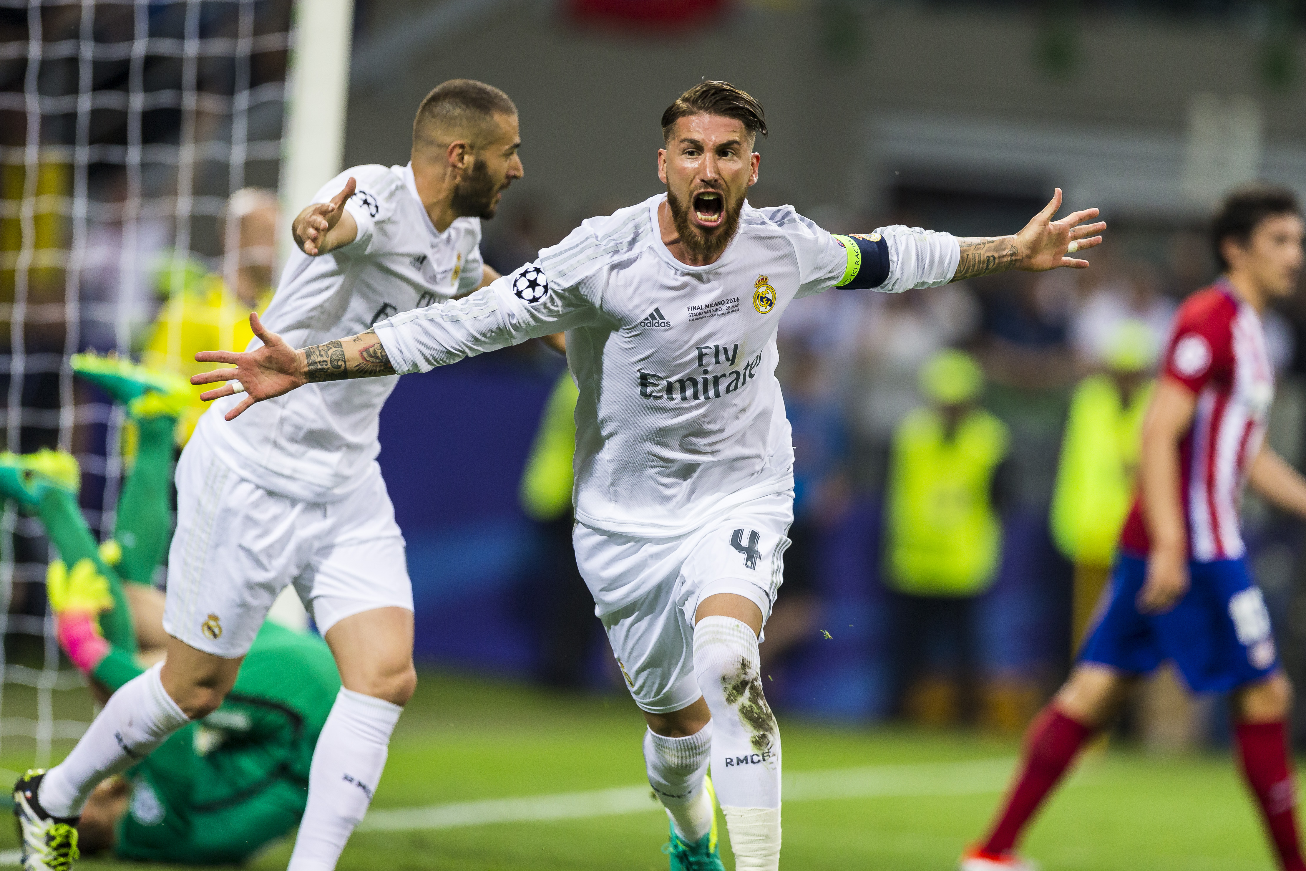
[[[693,627],[693,675],[712,712],[712,784],[737,871],[780,867],[780,729],[761,691],[757,636],[709,616]]]

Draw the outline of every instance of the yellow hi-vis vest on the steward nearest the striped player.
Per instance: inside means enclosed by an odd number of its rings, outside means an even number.
[[[1139,388],[1128,407],[1107,375],[1092,375],[1075,388],[1051,508],[1053,539],[1075,563],[1111,564],[1134,503],[1143,415],[1152,387]]]

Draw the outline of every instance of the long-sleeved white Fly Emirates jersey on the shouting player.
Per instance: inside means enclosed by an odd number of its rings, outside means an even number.
[[[688,266],[662,243],[665,198],[585,221],[534,264],[466,299],[375,326],[397,372],[565,329],[580,385],[576,517],[650,538],[793,486],[774,376],[776,325],[793,299],[836,285],[891,293],[943,285],[960,259],[947,234],[885,227],[832,236],[790,206],[744,204],[721,257]]]

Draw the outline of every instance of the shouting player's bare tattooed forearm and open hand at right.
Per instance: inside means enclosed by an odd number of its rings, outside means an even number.
[[[1102,238],[1096,234],[1106,229],[1106,222],[1084,223],[1097,217],[1097,209],[1072,212],[1060,221],[1053,221],[1060,205],[1062,192],[1057,188],[1051,201],[1020,232],[1011,236],[957,239],[961,260],[952,281],[991,276],[1008,269],[1087,269],[1087,260],[1076,260],[1070,255],[1102,244]]]

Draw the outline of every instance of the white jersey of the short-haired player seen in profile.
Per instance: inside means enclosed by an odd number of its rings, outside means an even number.
[[[443,303],[481,283],[481,219],[457,218],[438,232],[418,198],[411,166],[358,166],[328,182],[326,202],[353,176],[345,209],[358,238],[325,255],[298,248],[281,274],[264,325],[291,347],[367,330],[390,315]],[[251,347],[259,345],[251,342]],[[330,501],[347,494],[380,453],[381,405],[394,376],[306,384],[222,419],[244,397],[217,400],[200,419],[208,439],[242,477],[294,499]]]

